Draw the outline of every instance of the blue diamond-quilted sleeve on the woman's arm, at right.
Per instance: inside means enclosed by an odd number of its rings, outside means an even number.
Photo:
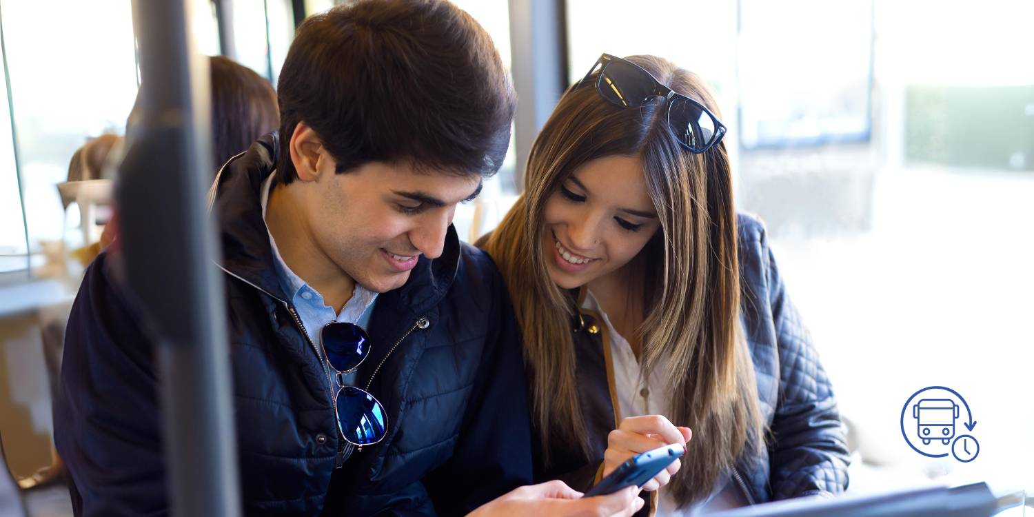
[[[763,234],[761,249],[780,360],[770,429],[772,499],[840,493],[848,485],[849,452],[837,399]]]

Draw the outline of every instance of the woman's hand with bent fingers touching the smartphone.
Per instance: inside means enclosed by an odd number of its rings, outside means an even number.
[[[689,427],[675,427],[660,415],[629,417],[621,420],[617,429],[607,435],[607,451],[603,454],[603,475],[614,472],[629,458],[657,449],[679,444],[686,446],[693,438]],[[667,485],[671,477],[682,466],[679,460],[670,465],[643,485],[643,490],[657,490]]]

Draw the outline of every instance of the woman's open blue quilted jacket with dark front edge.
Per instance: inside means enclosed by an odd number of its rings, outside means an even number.
[[[764,226],[743,214],[737,223],[742,320],[770,434],[759,456],[739,458],[730,473],[732,482],[751,504],[840,493],[847,488],[849,459],[829,378],[787,297]],[[595,323],[596,317],[583,311],[575,338],[582,413],[594,457],[586,463],[572,451],[552,451],[553,464],[537,467],[536,476],[559,477],[579,490],[592,485],[615,422],[605,331],[600,332],[602,323]],[[647,512],[648,505],[642,513]]]

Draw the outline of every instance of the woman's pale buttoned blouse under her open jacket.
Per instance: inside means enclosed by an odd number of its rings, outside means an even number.
[[[669,415],[671,405],[668,393],[664,389],[664,382],[657,371],[653,371],[649,378],[642,377],[642,370],[639,368],[639,361],[632,352],[632,345],[628,339],[621,337],[614,330],[607,313],[600,307],[600,303],[592,292],[588,292],[582,302],[582,308],[598,312],[603,317],[603,323],[607,326],[610,335],[610,357],[614,366],[614,384],[617,385],[617,403],[620,418],[639,417],[643,415]],[[674,423],[679,425],[678,422]],[[687,426],[691,429],[692,425]],[[682,458],[682,462],[693,461],[693,458]],[[677,475],[676,475],[677,476]],[[743,494],[733,483],[729,482],[730,477],[723,473],[719,479],[714,490],[706,499],[696,503],[687,508],[678,508],[672,499],[671,494],[664,488],[660,491],[660,508],[657,509],[659,517],[668,516],[691,516],[702,515],[732,508],[744,507],[748,505]]]

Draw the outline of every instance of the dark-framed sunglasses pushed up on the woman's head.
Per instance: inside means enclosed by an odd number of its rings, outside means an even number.
[[[597,73],[595,80],[594,73]],[[656,97],[668,101],[668,129],[694,153],[718,145],[725,126],[703,104],[664,86],[650,72],[625,59],[604,54],[575,88],[594,81],[600,96],[618,108],[639,108]]]

